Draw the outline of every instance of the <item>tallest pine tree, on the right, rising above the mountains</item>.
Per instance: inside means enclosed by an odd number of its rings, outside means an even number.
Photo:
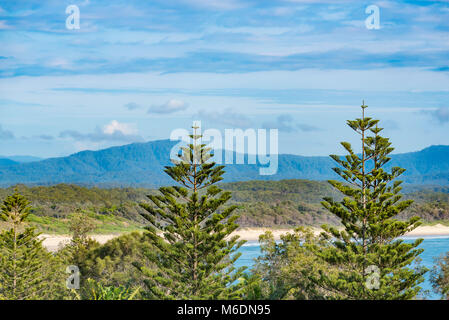
[[[338,268],[338,272],[315,279],[340,299],[412,299],[420,292],[424,268],[411,264],[423,249],[416,249],[423,241],[404,243],[397,239],[420,225],[413,217],[406,221],[394,219],[408,208],[412,201],[401,201],[402,181],[396,181],[405,169],[384,169],[394,150],[388,138],[380,136],[378,120],[365,117],[347,121],[348,126],[361,137],[361,154],[351,144],[342,142],[348,155],[331,155],[339,167],[334,171],[345,182],[330,180],[344,198],[337,202],[324,198],[322,204],[336,215],[343,230],[323,226],[323,233],[331,245],[314,248],[318,256]]]

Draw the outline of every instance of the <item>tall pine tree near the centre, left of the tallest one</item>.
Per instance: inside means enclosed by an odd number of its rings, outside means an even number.
[[[193,129],[193,143],[181,148],[174,166],[165,167],[178,185],[161,187],[161,195],[148,195],[152,204],[141,204],[155,247],[148,256],[158,267],[140,269],[153,298],[235,299],[241,294],[235,282],[245,269],[233,266],[244,243],[230,236],[238,228],[236,206],[222,208],[231,198],[215,185],[224,166],[210,161],[211,149],[201,144],[198,127]]]

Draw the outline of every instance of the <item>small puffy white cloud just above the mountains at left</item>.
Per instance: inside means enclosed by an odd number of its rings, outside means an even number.
[[[93,133],[80,133],[75,130],[65,130],[59,134],[60,138],[72,138],[78,141],[91,142],[136,142],[143,141],[137,129],[132,124],[120,123],[116,120],[105,125],[102,129],[97,127]]]

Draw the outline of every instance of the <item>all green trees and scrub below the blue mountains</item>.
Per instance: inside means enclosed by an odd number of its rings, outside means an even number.
[[[0,189],[0,299],[416,299],[426,272],[412,266],[421,240],[397,238],[421,220],[449,221],[448,189],[409,188],[402,200],[404,169],[390,165],[393,148],[377,120],[348,124],[362,151],[342,143],[348,155],[332,156],[341,179],[330,184],[219,184],[224,167],[192,135],[165,169],[172,187]],[[304,227],[322,223],[319,236]],[[234,267],[239,226],[295,229],[280,242],[261,236],[262,255],[244,272]],[[72,237],[51,253],[36,229]],[[124,234],[100,244],[93,233]],[[446,299],[448,261],[440,257],[432,272]],[[66,270],[79,270],[79,288],[67,288]]]

